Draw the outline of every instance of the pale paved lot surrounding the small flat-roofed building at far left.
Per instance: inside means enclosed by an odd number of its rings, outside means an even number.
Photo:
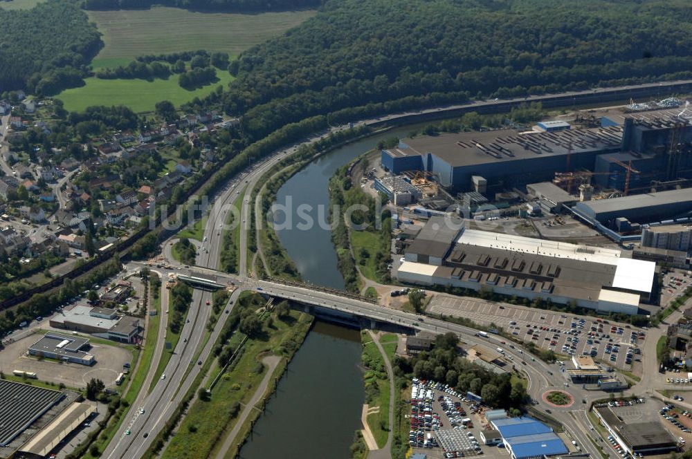
[[[84,388],[92,377],[102,380],[106,386],[115,385],[122,365],[132,360],[130,351],[116,343],[113,343],[113,346],[92,343],[88,352],[95,357],[96,363],[93,366],[29,357],[26,355],[27,348],[40,337],[39,334],[29,335],[8,344],[0,351],[0,368],[7,373],[11,373],[12,370],[30,371],[36,373],[42,381],[55,384],[62,382],[68,387]],[[89,338],[87,335],[84,337]]]

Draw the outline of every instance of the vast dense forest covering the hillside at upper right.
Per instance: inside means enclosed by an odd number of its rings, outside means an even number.
[[[258,139],[338,111],[331,121],[468,97],[690,77],[692,41],[681,39],[690,19],[682,0],[331,0],[231,62],[237,79],[221,102]]]

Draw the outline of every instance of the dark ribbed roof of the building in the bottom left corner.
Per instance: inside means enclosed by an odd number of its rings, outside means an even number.
[[[0,447],[6,447],[64,398],[51,389],[0,380]]]

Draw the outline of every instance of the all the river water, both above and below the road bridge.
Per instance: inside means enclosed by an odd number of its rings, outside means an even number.
[[[336,170],[376,147],[380,140],[406,137],[419,125],[392,129],[347,144],[318,158],[291,177],[277,193],[277,205],[286,214],[275,221],[277,236],[298,267],[304,281],[343,290],[344,280],[336,268],[336,250],[331,243],[329,178]],[[314,225],[298,227],[299,205],[311,209]],[[318,209],[322,209],[321,216]],[[303,212],[304,214],[304,212]],[[291,222],[289,225],[288,223]],[[253,437],[240,451],[244,459],[347,459],[354,431],[362,428],[365,402],[361,363],[361,337],[357,330],[317,322],[289,364],[289,373],[279,383]]]

